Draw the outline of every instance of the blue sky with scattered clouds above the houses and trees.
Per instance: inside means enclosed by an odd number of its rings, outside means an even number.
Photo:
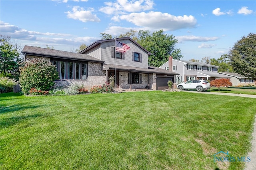
[[[256,33],[255,0],[1,0],[0,34],[24,45],[75,51],[133,30],[163,29],[183,60],[219,58]]]

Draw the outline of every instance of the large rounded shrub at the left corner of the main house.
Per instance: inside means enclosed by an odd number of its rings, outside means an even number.
[[[28,59],[20,67],[20,86],[28,94],[31,88],[48,91],[58,79],[56,66],[46,59]]]

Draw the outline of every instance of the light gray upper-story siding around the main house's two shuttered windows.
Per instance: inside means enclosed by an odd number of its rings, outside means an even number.
[[[128,39],[121,40],[120,42],[128,45],[130,50],[124,53],[124,59],[116,59],[116,65],[148,68],[148,53]],[[111,47],[114,47],[114,41],[107,41],[101,44],[101,60],[105,61],[107,64],[115,64],[115,59],[111,57]],[[142,63],[132,61],[132,52],[142,54]],[[94,56],[92,55],[92,57]]]

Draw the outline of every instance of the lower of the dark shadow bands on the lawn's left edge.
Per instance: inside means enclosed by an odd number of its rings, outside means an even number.
[[[26,119],[32,119],[32,118],[36,118],[36,117],[40,117],[41,114],[34,114],[34,115],[26,115],[26,116],[14,116],[14,117],[9,117],[9,118],[3,118],[0,121],[0,127],[9,127],[12,125],[15,125],[16,123],[20,122],[20,121],[24,121]]]

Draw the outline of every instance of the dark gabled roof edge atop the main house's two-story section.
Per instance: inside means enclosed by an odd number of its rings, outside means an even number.
[[[148,53],[148,55],[151,55],[151,53],[149,51],[147,51],[146,49],[144,49],[144,47],[142,47],[140,44],[138,44],[136,41],[134,41],[133,39],[131,39],[130,37],[123,37],[123,38],[116,38],[117,41],[123,40],[123,39],[129,39],[130,41],[132,41],[133,43],[135,43],[138,47],[140,47],[142,50],[144,50],[146,53]],[[108,42],[108,41],[114,41],[115,39],[104,39],[104,40],[98,40],[98,41],[94,41],[92,44],[88,45],[85,49],[83,49],[82,51],[80,51],[79,53],[85,53],[86,51],[89,51],[90,49],[93,49],[94,47],[102,44],[103,42]],[[114,45],[114,43],[113,43]]]

